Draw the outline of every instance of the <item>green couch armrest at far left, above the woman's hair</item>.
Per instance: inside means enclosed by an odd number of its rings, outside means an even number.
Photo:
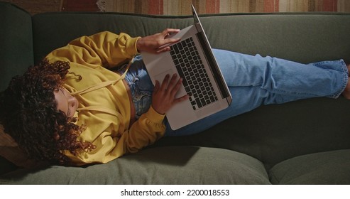
[[[9,3],[0,2],[0,91],[11,77],[33,65],[31,15]]]

